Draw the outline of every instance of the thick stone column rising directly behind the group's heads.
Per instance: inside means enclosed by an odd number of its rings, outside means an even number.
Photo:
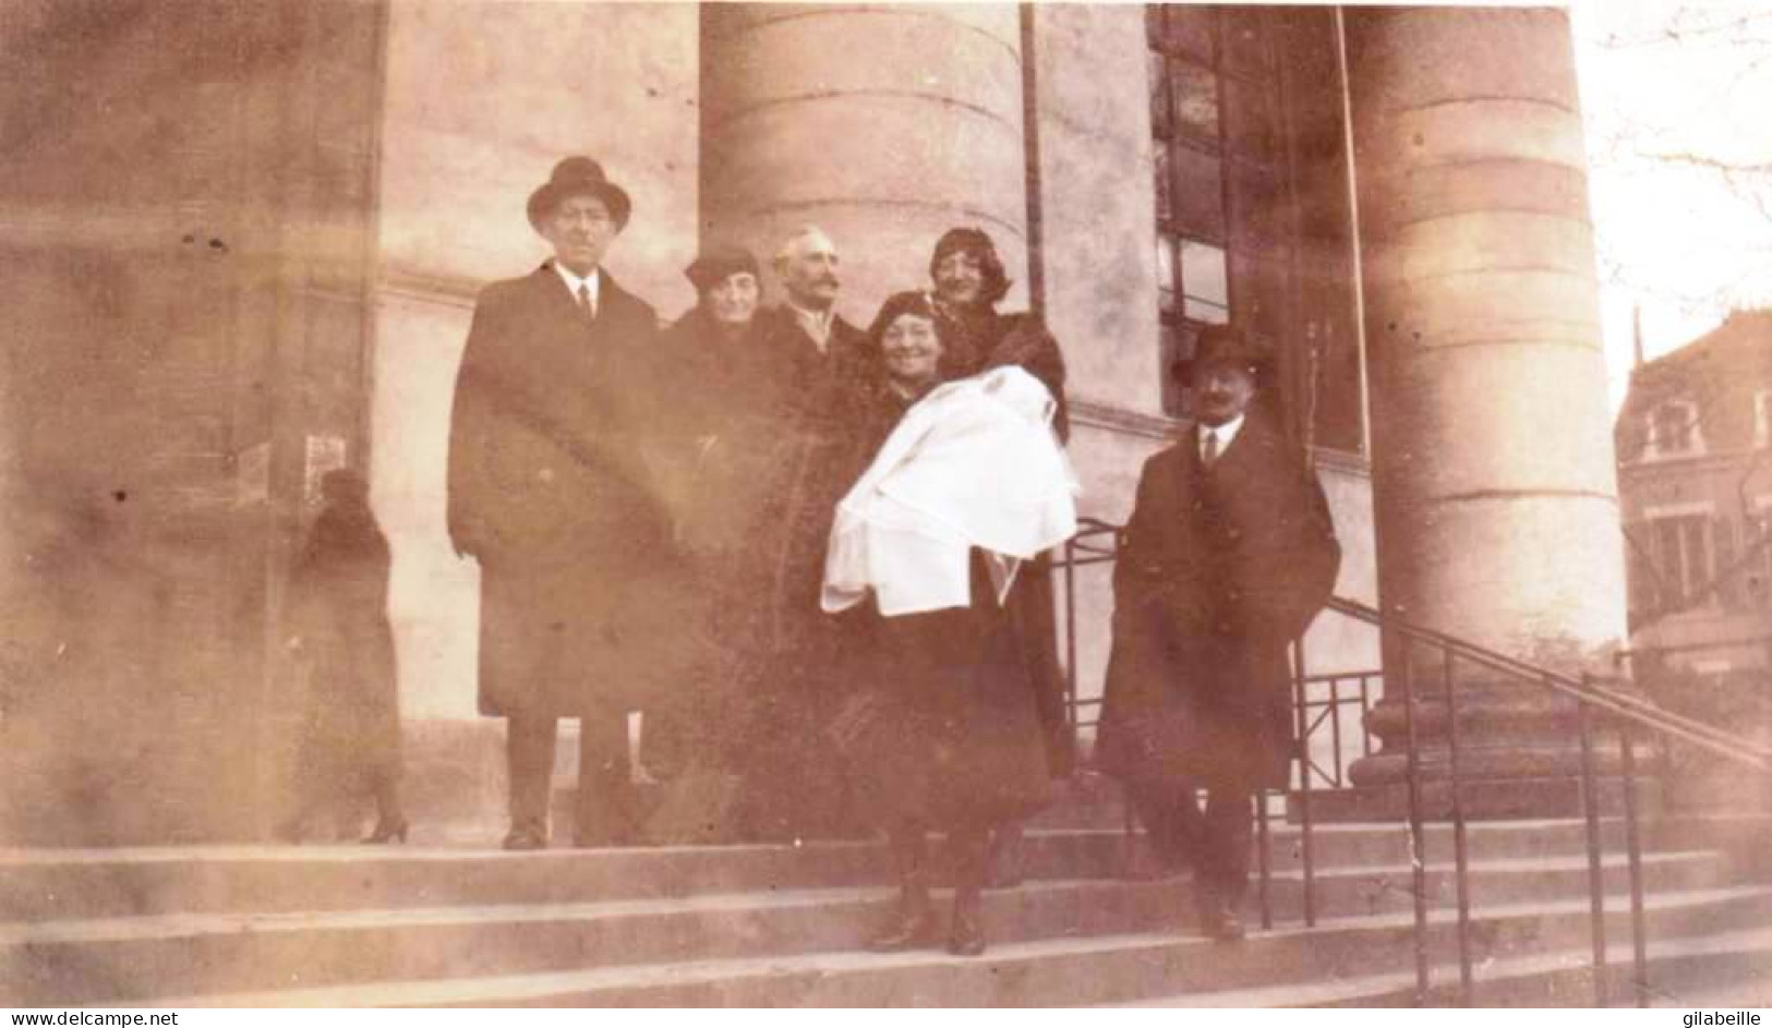
[[[1005,308],[1026,305],[1024,167],[1014,5],[702,7],[702,239],[767,264],[794,227],[824,227],[858,324],[929,285],[952,225],[996,239]]]

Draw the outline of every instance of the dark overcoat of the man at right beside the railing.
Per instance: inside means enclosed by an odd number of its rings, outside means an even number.
[[[1193,431],[1150,457],[1115,564],[1099,766],[1123,780],[1283,787],[1295,737],[1286,645],[1340,565],[1322,487],[1258,413],[1210,470]]]

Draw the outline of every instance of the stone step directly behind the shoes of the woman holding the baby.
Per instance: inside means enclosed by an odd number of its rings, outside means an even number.
[[[537,863],[537,867],[544,867]],[[1471,868],[1480,907],[1584,895],[1582,858],[1497,860]],[[1623,860],[1605,867],[1627,888]],[[1715,886],[1712,853],[1652,854],[1652,890]],[[1412,911],[1407,867],[1343,868],[1317,879],[1318,916]],[[1432,870],[1428,895],[1455,902],[1453,876]],[[711,957],[776,957],[856,950],[890,909],[893,890],[767,888],[601,902],[464,904],[292,913],[168,913],[0,925],[0,1001],[122,1001],[174,993],[438,980],[489,971],[673,964]],[[1302,876],[1271,890],[1281,927],[1302,920]],[[1251,907],[1255,904],[1251,902]],[[996,943],[1189,931],[1184,879],[1162,883],[1042,881],[987,897]],[[1251,909],[1251,923],[1258,923]]]

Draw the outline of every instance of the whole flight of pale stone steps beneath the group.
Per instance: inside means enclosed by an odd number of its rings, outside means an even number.
[[[991,952],[874,955],[890,907],[881,845],[507,854],[424,826],[404,847],[0,853],[0,1007],[427,1005],[1407,1005],[1409,837],[1315,833],[1302,925],[1297,826],[1272,831],[1274,929],[1193,931],[1187,883],[1122,881],[1116,803],[1030,835],[1030,881],[985,900]],[[1745,860],[1765,817],[1646,826],[1659,1001],[1772,991],[1772,876]],[[1632,1003],[1621,826],[1607,822],[1616,1003]],[[1589,1005],[1584,828],[1469,828],[1476,1001]],[[1428,835],[1430,1001],[1457,1001],[1451,835]],[[1731,1000],[1733,1001],[1733,1000]]]

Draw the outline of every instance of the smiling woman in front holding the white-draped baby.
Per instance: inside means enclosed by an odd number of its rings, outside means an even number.
[[[941,383],[948,339],[929,294],[886,301],[868,339],[884,374],[867,393],[858,466],[920,399]],[[936,941],[927,833],[943,831],[955,876],[948,950],[985,948],[980,888],[994,826],[1024,817],[1049,798],[1049,767],[1033,679],[998,604],[980,551],[971,558],[971,604],[882,617],[870,601],[858,645],[858,693],[833,725],[851,759],[858,805],[891,838],[900,899],[872,950]],[[1021,588],[1017,583],[1015,588]]]

